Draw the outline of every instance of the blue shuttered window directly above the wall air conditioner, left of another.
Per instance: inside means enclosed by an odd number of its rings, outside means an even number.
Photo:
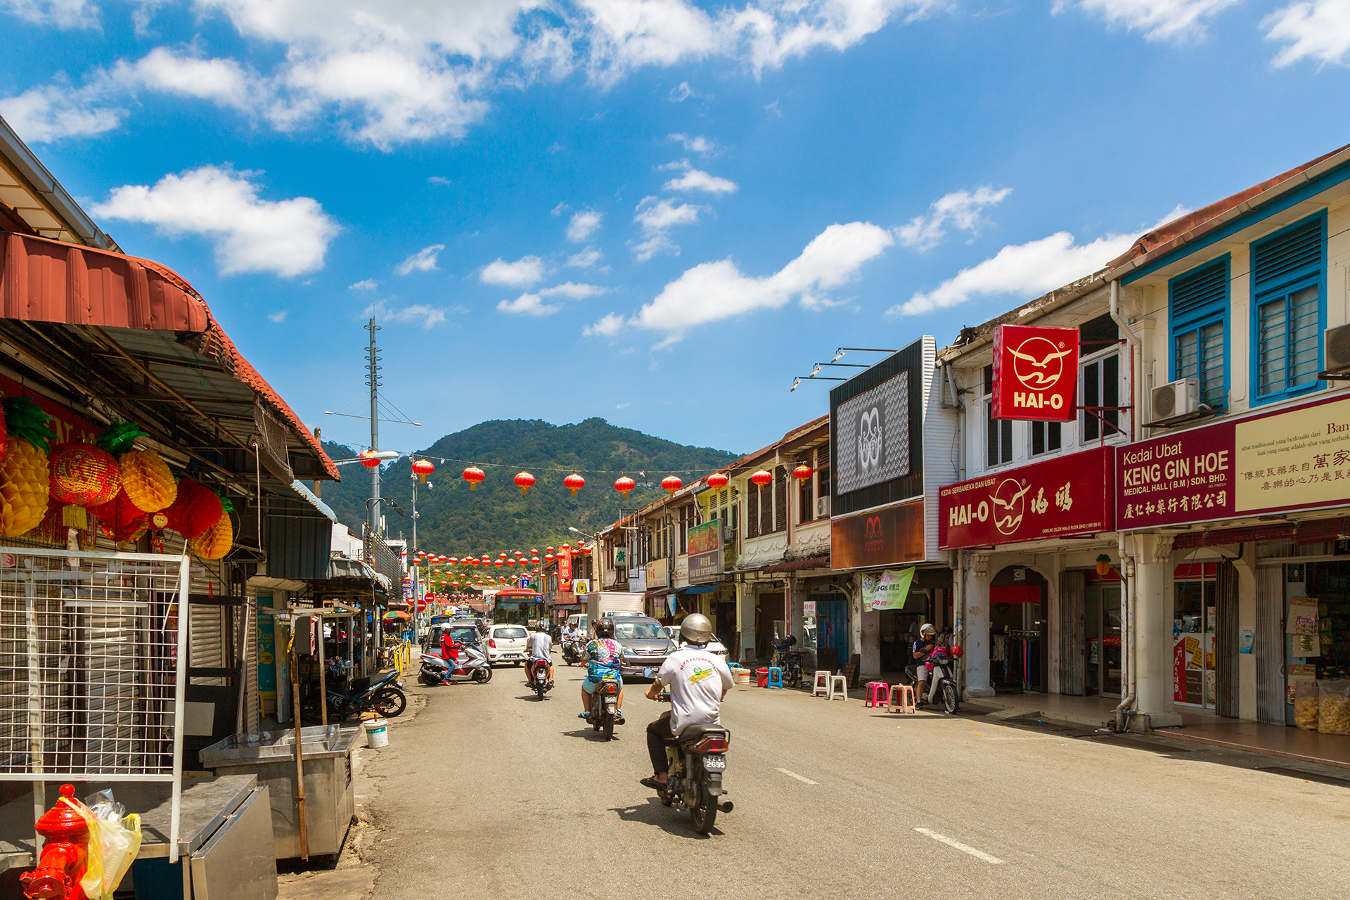
[[[1223,256],[1168,282],[1172,381],[1196,379],[1210,409],[1228,401],[1228,271]]]

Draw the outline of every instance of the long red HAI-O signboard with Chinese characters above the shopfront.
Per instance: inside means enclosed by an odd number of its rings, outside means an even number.
[[[1114,457],[1114,448],[1098,447],[938,488],[938,546],[1112,530]]]

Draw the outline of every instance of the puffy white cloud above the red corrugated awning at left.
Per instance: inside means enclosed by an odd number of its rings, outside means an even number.
[[[155,185],[124,185],[93,206],[96,216],[154,225],[178,235],[202,235],[215,244],[224,275],[271,271],[302,275],[324,266],[339,227],[310,197],[262,200],[254,173],[202,166],[169,174]]]

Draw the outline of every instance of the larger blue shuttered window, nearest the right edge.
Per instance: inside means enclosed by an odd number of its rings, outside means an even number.
[[[1326,219],[1320,213],[1251,244],[1257,402],[1319,385],[1324,260]]]

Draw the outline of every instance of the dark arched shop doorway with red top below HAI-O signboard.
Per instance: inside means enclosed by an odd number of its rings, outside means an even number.
[[[1000,694],[1046,688],[1046,582],[1008,565],[990,584],[990,679]]]

